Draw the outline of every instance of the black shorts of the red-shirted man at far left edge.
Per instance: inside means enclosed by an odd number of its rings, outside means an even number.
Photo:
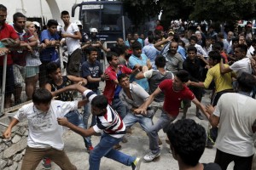
[[[3,84],[3,66],[0,66],[0,86]],[[5,82],[5,95],[13,94],[15,89],[15,77],[13,65],[7,65],[6,68],[6,82]]]

